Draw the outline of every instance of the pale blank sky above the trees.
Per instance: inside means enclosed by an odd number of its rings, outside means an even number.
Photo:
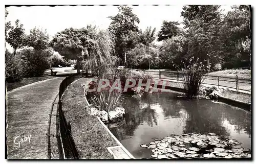
[[[180,13],[182,5],[171,6],[152,6],[139,5],[131,6],[133,13],[139,19],[139,28],[144,31],[146,27],[152,26],[156,28],[156,33],[161,28],[163,20],[182,22]],[[230,5],[223,5],[224,12],[230,10]],[[31,7],[15,7],[7,8],[9,14],[6,21],[11,21],[14,26],[16,19],[24,25],[25,33],[34,27],[47,29],[50,38],[57,32],[65,30],[66,28],[82,28],[87,25],[96,25],[100,29],[107,29],[110,25],[110,18],[108,16],[115,16],[118,13],[117,6],[31,6]],[[181,25],[182,26],[182,25]],[[6,48],[12,50],[9,44]]]

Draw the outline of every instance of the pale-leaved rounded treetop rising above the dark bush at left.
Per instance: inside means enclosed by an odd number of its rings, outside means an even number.
[[[49,35],[47,30],[33,28],[30,34],[25,37],[26,45],[31,46],[36,51],[45,50],[49,47]]]

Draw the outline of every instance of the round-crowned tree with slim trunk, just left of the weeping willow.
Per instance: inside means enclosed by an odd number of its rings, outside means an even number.
[[[69,28],[58,32],[50,42],[50,45],[54,51],[67,59],[77,60],[77,73],[80,73],[81,53],[83,48],[86,48],[90,42],[88,29]]]

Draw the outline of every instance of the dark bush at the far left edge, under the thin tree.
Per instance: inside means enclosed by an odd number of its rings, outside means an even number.
[[[5,52],[5,71],[7,82],[18,82],[23,78],[22,62],[14,58],[8,50]]]

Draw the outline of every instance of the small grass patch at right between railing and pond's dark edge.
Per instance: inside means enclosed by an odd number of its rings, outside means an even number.
[[[251,95],[248,93],[242,93],[238,91],[225,89],[220,92],[220,96],[224,96],[230,99],[239,100],[246,103],[251,103]]]

